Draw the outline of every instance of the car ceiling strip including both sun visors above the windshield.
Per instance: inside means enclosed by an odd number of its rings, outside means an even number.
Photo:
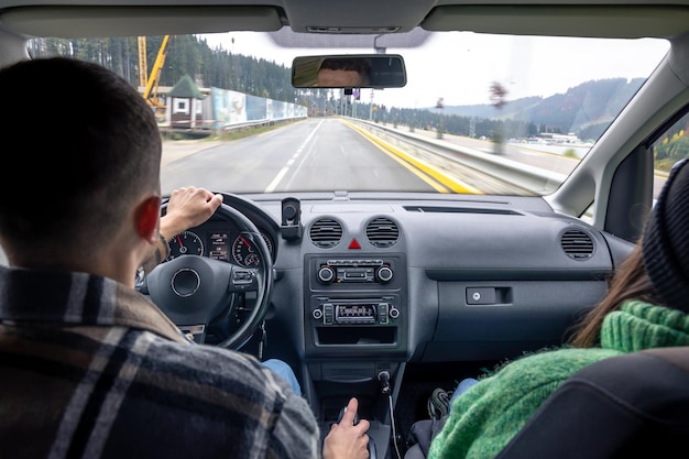
[[[261,0],[73,0],[69,6],[59,0],[0,0],[0,21],[6,31],[20,35],[64,37],[287,28],[296,35],[314,32],[351,40],[352,34],[408,33],[417,26],[528,35],[671,37],[689,29],[689,0],[663,4],[652,0],[274,0],[271,4]]]

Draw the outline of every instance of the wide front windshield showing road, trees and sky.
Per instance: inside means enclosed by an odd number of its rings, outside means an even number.
[[[412,47],[383,35],[354,47],[300,35],[293,47],[252,32],[41,39],[30,53],[95,61],[139,87],[165,140],[166,195],[188,185],[546,195],[668,51],[645,39],[415,31]],[[372,53],[402,56],[406,85],[351,94],[291,85],[296,56]]]

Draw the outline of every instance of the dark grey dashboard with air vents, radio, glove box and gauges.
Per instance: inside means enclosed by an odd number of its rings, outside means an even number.
[[[262,357],[297,370],[324,431],[356,395],[379,445],[391,429],[382,374],[398,393],[414,365],[479,365],[561,345],[634,248],[540,197],[223,196],[273,256]],[[261,262],[215,217],[172,241],[171,258],[186,253]]]

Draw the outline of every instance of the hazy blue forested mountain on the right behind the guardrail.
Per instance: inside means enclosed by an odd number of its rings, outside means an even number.
[[[542,127],[542,132],[576,132],[581,139],[598,138],[643,83],[643,78],[591,80],[565,94],[512,100],[501,109],[490,103],[446,106],[445,113],[479,119],[522,120]]]

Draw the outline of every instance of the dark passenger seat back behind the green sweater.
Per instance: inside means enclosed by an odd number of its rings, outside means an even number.
[[[573,374],[497,458],[663,458],[688,441],[689,347],[661,348]]]

